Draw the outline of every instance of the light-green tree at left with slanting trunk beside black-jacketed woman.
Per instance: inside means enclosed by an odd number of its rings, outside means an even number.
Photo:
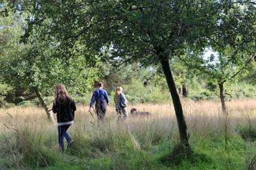
[[[57,83],[72,87],[69,91],[80,92],[92,88],[97,78],[97,69],[88,69],[87,53],[72,53],[68,60],[54,58],[56,46],[52,41],[35,39],[38,30],[31,31],[31,36],[20,42],[23,15],[8,12],[0,19],[0,36],[3,37],[1,46],[0,76],[4,83],[16,88],[22,88],[35,93],[44,107],[47,117],[53,122],[49,108],[42,94],[51,95]],[[76,46],[79,48],[79,46]],[[96,74],[96,75],[95,75]],[[50,91],[50,92],[49,92]]]

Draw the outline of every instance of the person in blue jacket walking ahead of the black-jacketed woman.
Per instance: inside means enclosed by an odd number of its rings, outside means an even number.
[[[105,120],[105,115],[107,111],[107,104],[109,104],[109,97],[108,97],[108,92],[103,89],[104,85],[102,82],[97,83],[97,89],[94,90],[91,103],[90,103],[90,108],[89,112],[91,113],[93,104],[95,104],[95,111],[98,117],[98,120],[101,122],[104,122]]]

